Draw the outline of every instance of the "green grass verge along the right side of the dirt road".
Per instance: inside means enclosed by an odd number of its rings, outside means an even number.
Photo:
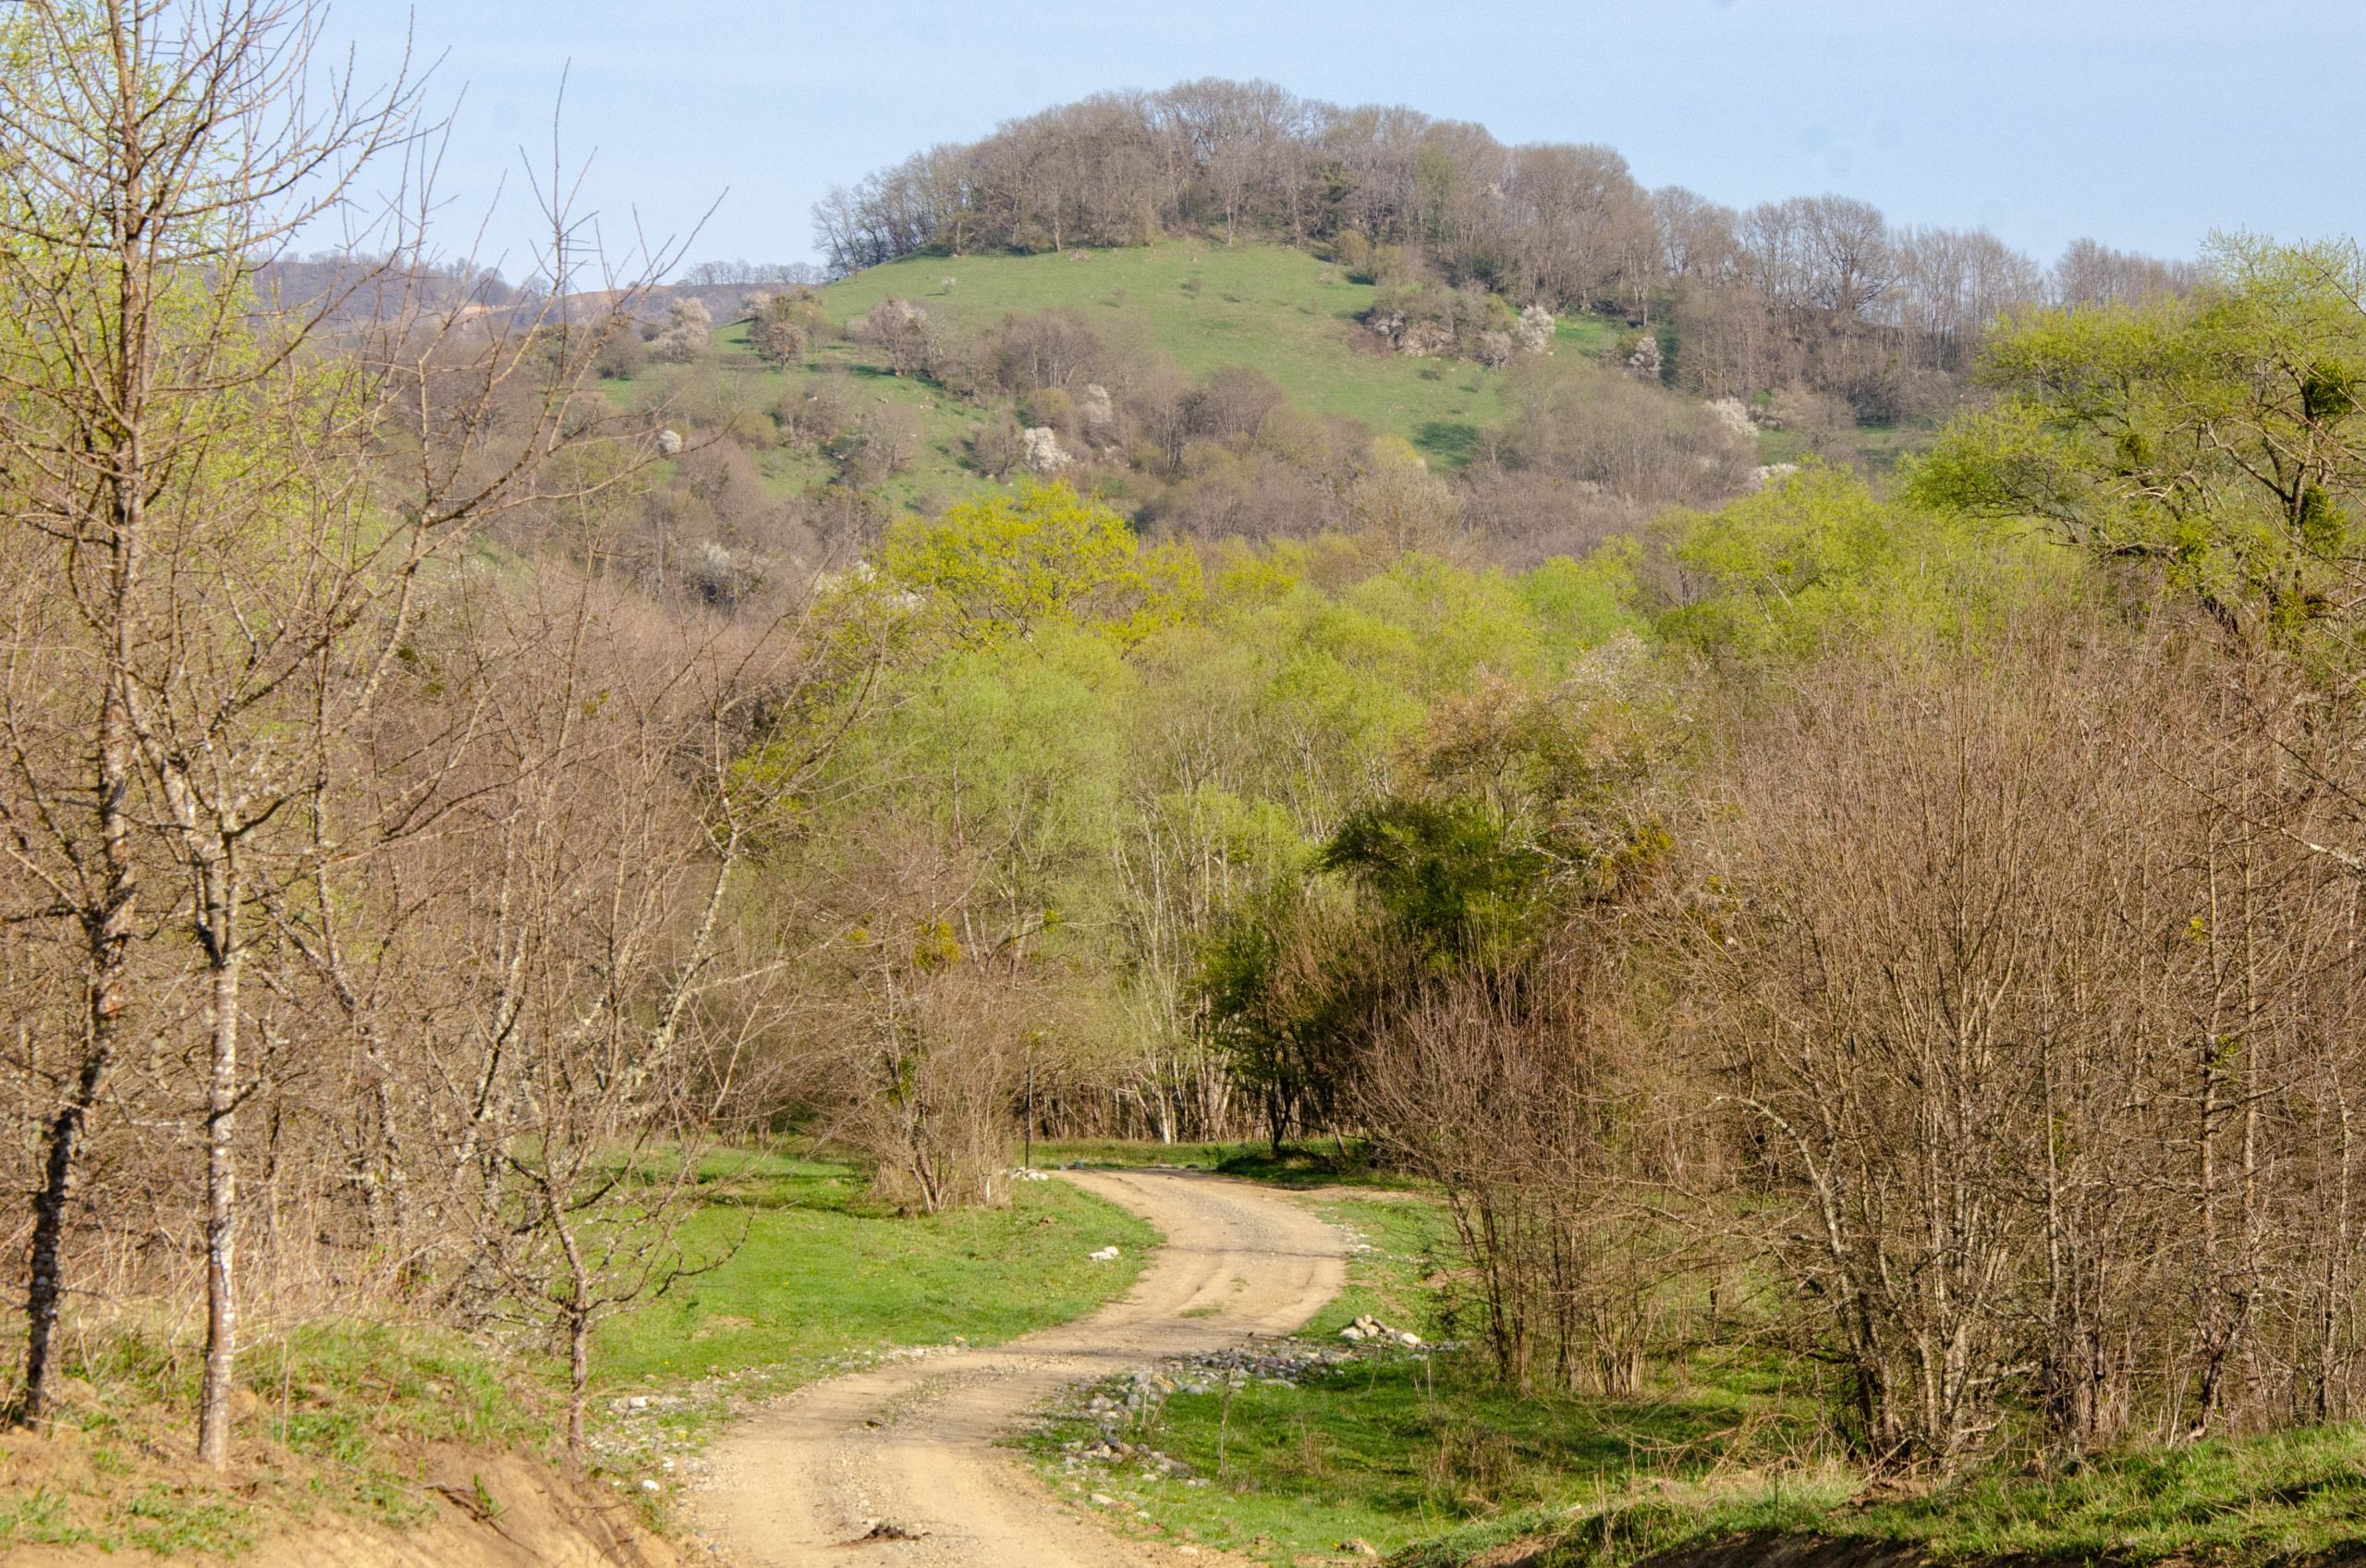
[[[1138,1414],[1091,1407],[1138,1383],[1079,1390],[1024,1440],[1046,1485],[1131,1535],[1275,1568],[1365,1549],[1394,1568],[1628,1568],[1718,1542],[1741,1566],[1774,1535],[1938,1563],[2271,1568],[2366,1542],[2361,1426],[1869,1495],[1819,1438],[1812,1371],[1774,1352],[1701,1350],[1630,1397],[1519,1397],[1453,1348],[1479,1319],[1436,1199],[1372,1191],[1323,1213],[1360,1251],[1297,1355],[1162,1367],[1174,1390]],[[1360,1315],[1431,1343],[1346,1345],[1337,1331]]]

